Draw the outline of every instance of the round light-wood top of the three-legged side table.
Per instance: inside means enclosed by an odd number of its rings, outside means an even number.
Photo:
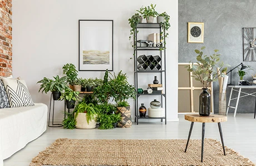
[[[199,113],[196,114],[186,114],[185,120],[190,122],[202,122],[202,123],[219,123],[227,122],[227,116],[223,115],[210,115],[210,116],[200,116]]]

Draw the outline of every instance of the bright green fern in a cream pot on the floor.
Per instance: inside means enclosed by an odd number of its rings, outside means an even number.
[[[97,108],[93,103],[86,103],[84,100],[78,102],[75,107],[76,128],[96,128]]]

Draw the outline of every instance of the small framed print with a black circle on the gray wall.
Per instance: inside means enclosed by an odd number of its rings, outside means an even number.
[[[188,43],[204,43],[204,23],[188,23]]]

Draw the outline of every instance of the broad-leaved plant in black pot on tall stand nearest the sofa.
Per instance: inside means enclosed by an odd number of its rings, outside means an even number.
[[[38,81],[37,84],[41,83],[38,92],[42,90],[42,93],[45,92],[47,94],[48,91],[51,91],[53,100],[59,100],[61,92],[67,87],[67,77],[63,76],[60,78],[60,76],[57,75],[53,76],[53,78],[54,80],[43,77],[42,80]]]

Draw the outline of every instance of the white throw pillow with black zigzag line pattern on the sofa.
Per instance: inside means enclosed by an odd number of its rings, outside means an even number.
[[[34,106],[31,95],[24,80],[2,78],[9,105],[13,107]]]

